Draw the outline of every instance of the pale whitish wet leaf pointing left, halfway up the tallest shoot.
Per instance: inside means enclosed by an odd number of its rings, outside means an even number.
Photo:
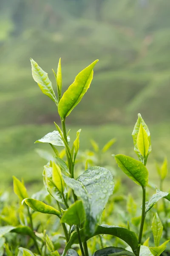
[[[70,143],[70,137],[67,137],[68,143]],[[35,143],[51,143],[52,145],[64,147],[64,142],[58,131],[49,132],[40,140],[36,140]]]

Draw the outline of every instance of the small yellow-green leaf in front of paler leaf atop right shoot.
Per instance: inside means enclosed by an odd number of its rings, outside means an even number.
[[[142,123],[140,124],[140,127],[139,127],[139,133],[137,136],[136,143],[137,143],[139,152],[142,154],[143,157],[146,157],[149,149],[149,140],[148,140],[147,132],[144,130]]]

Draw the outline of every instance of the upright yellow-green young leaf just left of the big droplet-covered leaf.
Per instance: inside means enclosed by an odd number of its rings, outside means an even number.
[[[54,185],[57,187],[59,192],[63,194],[64,186],[65,186],[64,180],[62,178],[62,174],[59,166],[54,162],[53,162],[52,179],[53,179]]]

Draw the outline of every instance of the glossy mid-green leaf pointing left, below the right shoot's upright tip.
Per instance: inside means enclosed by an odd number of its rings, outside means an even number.
[[[125,174],[136,184],[146,186],[148,183],[148,171],[140,161],[122,154],[117,154],[115,160]]]

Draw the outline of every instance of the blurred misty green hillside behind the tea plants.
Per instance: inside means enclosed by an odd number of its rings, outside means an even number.
[[[12,175],[42,184],[45,160],[34,144],[55,130],[59,116],[31,76],[29,58],[48,73],[62,58],[63,90],[99,58],[94,80],[67,119],[71,136],[82,128],[80,148],[90,139],[108,153],[135,156],[131,132],[141,113],[150,128],[154,161],[170,154],[170,0],[0,0],[0,180]],[[112,157],[110,164],[115,166]]]

